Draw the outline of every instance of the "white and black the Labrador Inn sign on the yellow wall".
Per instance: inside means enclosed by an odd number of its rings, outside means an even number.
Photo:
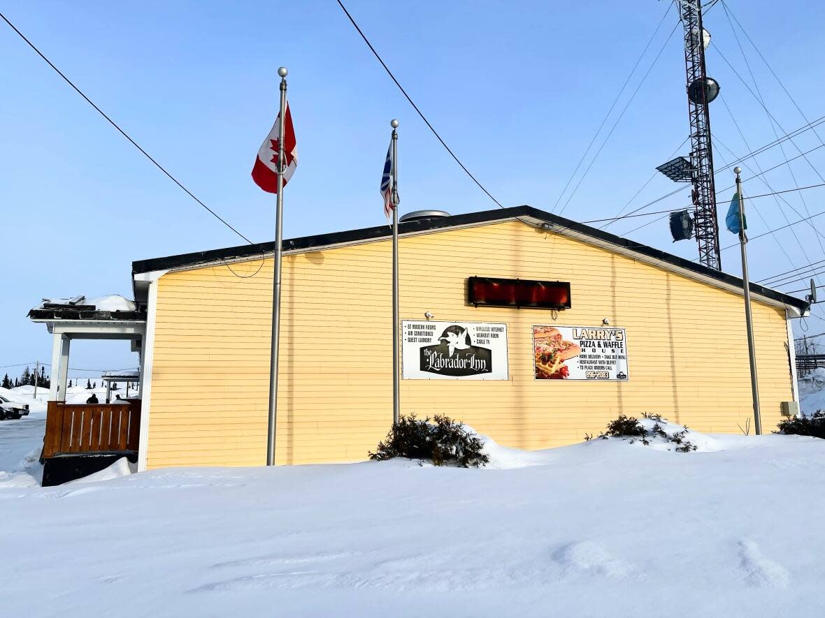
[[[507,380],[507,325],[401,322],[405,380]]]

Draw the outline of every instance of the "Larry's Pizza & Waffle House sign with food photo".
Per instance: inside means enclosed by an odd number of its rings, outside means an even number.
[[[625,329],[533,326],[536,380],[628,379]]]

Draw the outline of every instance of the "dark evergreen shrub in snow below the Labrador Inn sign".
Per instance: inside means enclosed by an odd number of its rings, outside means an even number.
[[[428,459],[436,466],[454,464],[469,468],[488,463],[489,457],[481,452],[483,447],[481,439],[464,428],[460,421],[443,414],[418,420],[415,414],[410,414],[393,424],[375,452],[370,452],[370,459],[407,457]]]

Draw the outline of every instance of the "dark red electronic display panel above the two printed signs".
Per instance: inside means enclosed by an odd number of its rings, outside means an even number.
[[[467,302],[476,306],[569,309],[570,283],[470,277],[467,280]]]

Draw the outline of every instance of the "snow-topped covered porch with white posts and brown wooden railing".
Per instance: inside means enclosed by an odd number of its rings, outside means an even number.
[[[69,349],[74,339],[125,339],[130,341],[132,351],[140,352],[146,335],[145,307],[137,307],[121,296],[45,298],[29,311],[29,318],[45,324],[54,337],[43,458],[88,453],[136,456],[140,400],[66,403],[66,385]],[[143,360],[141,354],[139,372],[130,372],[128,377],[119,372],[117,380],[140,382]],[[107,381],[107,377],[111,380]],[[107,385],[114,381],[113,374],[104,376]]]

